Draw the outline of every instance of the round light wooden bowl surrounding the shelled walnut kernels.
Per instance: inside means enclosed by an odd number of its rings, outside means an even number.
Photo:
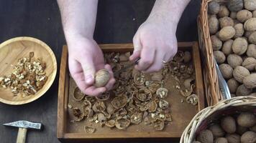
[[[45,73],[48,77],[45,85],[35,95],[14,97],[10,88],[0,87],[0,102],[5,104],[19,105],[33,102],[42,97],[50,88],[55,79],[57,72],[57,62],[55,55],[47,44],[32,37],[17,37],[9,39],[0,44],[0,77],[11,74],[13,71],[12,64],[17,64],[18,59],[29,56],[29,52],[34,52],[35,58],[42,58],[46,62]]]

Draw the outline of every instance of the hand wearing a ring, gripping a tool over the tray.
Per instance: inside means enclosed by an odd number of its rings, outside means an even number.
[[[177,24],[163,18],[147,19],[133,38],[134,52],[129,59],[140,57],[135,69],[145,73],[160,71],[164,61],[170,61],[177,52],[176,28]]]

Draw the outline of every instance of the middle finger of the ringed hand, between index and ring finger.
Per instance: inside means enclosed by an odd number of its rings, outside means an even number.
[[[165,54],[161,51],[157,52],[157,54],[155,55],[154,63],[143,72],[151,73],[151,72],[160,71],[163,68],[163,60],[164,59],[165,59]]]

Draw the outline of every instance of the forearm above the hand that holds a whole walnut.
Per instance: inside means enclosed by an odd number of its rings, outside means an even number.
[[[58,0],[66,39],[93,38],[98,0]]]

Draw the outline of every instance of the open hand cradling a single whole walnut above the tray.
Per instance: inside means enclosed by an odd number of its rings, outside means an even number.
[[[70,74],[83,93],[97,96],[108,91],[114,85],[115,79],[109,64],[104,64],[104,56],[96,41],[84,37],[73,37],[68,41],[68,65]],[[96,71],[106,69],[111,78],[105,87],[96,88],[94,75]]]

